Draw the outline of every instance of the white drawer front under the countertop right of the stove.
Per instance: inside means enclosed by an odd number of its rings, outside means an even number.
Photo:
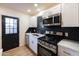
[[[58,55],[59,56],[79,56],[79,52],[66,47],[58,46]]]

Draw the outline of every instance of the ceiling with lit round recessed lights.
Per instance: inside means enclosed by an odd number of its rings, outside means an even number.
[[[40,11],[51,8],[57,5],[58,3],[37,3],[37,4],[38,6],[35,7],[34,3],[0,3],[0,6],[34,16],[38,14]],[[30,9],[31,11],[27,12],[28,9]]]

